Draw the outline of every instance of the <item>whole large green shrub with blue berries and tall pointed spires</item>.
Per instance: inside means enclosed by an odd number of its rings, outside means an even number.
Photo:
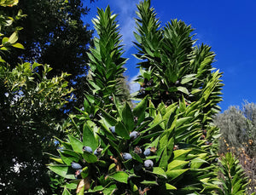
[[[90,89],[94,93],[86,95],[84,110],[73,116],[79,122],[73,120],[70,135],[58,140],[59,155],[51,156],[54,162],[49,169],[67,180],[63,194],[216,194],[221,191],[216,166],[219,134],[212,114],[218,111],[222,83],[221,74],[212,72],[214,54],[207,46],[192,47],[190,26],[181,21],[167,25],[166,34],[156,32],[159,26],[152,18],[155,14],[150,1],[137,8],[137,24],[144,26],[143,30],[138,27],[140,35],[135,34],[137,47],[144,49],[137,55],[143,60],[138,81],[148,85],[148,94],[141,90],[143,100],[133,109],[115,97],[119,94],[113,86],[116,76],[111,73],[118,66],[123,72],[125,60],[119,49],[115,14],[110,14],[109,7],[99,9],[95,20],[99,38],[89,54]],[[152,41],[154,38],[158,41]],[[182,38],[184,45],[182,42],[179,49],[176,43]],[[160,47],[164,43],[169,45]],[[162,59],[157,56],[160,54]],[[180,88],[172,88],[172,74],[182,79]],[[108,77],[113,77],[110,83]],[[161,95],[164,92],[166,96]]]

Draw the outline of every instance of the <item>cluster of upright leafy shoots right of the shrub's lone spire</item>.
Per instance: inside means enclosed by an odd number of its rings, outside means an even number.
[[[154,104],[163,101],[167,106],[184,97],[190,104],[199,100],[207,89],[208,106],[203,112],[218,112],[223,84],[219,79],[221,73],[212,72],[215,55],[211,48],[204,44],[195,47],[193,29],[181,20],[172,20],[160,28],[150,1],[141,2],[137,9],[135,56],[142,60],[141,76],[137,79],[141,89],[137,97],[150,95]]]

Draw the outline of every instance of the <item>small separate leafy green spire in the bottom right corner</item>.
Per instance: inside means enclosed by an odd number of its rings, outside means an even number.
[[[226,153],[220,160],[220,170],[223,174],[221,178],[222,191],[220,194],[245,194],[247,178],[239,161],[230,153]]]

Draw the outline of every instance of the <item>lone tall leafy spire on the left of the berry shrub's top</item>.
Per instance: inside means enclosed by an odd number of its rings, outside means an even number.
[[[93,95],[101,98],[106,108],[113,105],[113,95],[123,100],[125,91],[122,80],[125,62],[122,58],[123,48],[116,14],[111,14],[108,7],[105,11],[98,9],[97,19],[92,20],[99,37],[94,38],[95,48],[90,48],[90,75],[88,83]],[[127,93],[127,92],[126,92]],[[90,93],[88,93],[90,94]],[[123,100],[124,101],[124,100]]]

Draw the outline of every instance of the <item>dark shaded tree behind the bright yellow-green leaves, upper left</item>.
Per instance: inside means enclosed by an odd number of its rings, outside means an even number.
[[[69,86],[76,89],[73,91],[76,100],[70,103],[80,107],[83,93],[87,90],[86,52],[93,33],[89,25],[84,24],[82,17],[90,9],[80,0],[21,0],[15,8],[4,9],[5,12],[9,11],[9,15],[15,15],[20,9],[27,15],[16,22],[16,26],[24,28],[19,33],[19,40],[26,50],[13,49],[11,54],[5,56],[5,60],[12,67],[20,62],[19,58],[23,61],[36,60],[41,64],[50,64],[53,71],[49,72],[49,77],[60,76],[61,72],[70,73],[67,78]],[[73,106],[68,106],[67,110],[73,109]]]

